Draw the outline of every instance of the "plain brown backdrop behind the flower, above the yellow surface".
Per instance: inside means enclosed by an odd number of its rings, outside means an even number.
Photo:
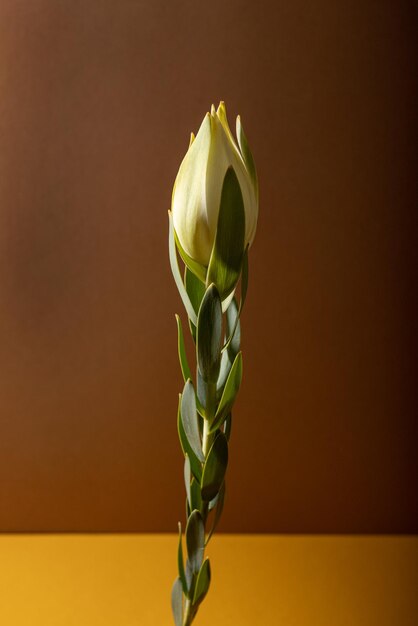
[[[0,527],[175,531],[167,209],[237,113],[259,229],[225,531],[414,532],[408,2],[0,3]]]

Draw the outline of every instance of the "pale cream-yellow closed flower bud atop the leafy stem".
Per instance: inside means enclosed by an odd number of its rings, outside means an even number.
[[[173,225],[177,239],[189,257],[207,267],[215,241],[221,192],[225,175],[233,168],[239,182],[245,211],[244,247],[251,245],[257,227],[258,182],[240,117],[237,141],[226,118],[225,105],[212,105],[190,146],[174,183]]]

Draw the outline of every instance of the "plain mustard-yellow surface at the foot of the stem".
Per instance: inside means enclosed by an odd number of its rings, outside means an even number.
[[[174,535],[0,536],[1,626],[172,626]],[[416,626],[418,539],[218,535],[196,626]]]

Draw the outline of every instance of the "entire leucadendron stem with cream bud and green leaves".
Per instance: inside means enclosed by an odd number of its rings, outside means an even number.
[[[232,412],[242,381],[241,313],[248,287],[248,247],[257,227],[258,183],[239,117],[236,130],[235,140],[223,102],[217,111],[212,106],[196,138],[191,137],[168,211],[170,266],[195,347],[191,363],[181,317],[176,315],[184,379],[177,430],[187,493],[184,531],[179,522],[178,575],[171,592],[176,626],[192,626],[210,587],[205,548],[223,510]]]

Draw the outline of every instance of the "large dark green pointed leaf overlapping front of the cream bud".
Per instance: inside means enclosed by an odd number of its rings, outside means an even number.
[[[222,186],[215,242],[206,276],[206,285],[215,283],[221,300],[224,300],[238,283],[244,248],[244,201],[237,175],[230,166]]]

